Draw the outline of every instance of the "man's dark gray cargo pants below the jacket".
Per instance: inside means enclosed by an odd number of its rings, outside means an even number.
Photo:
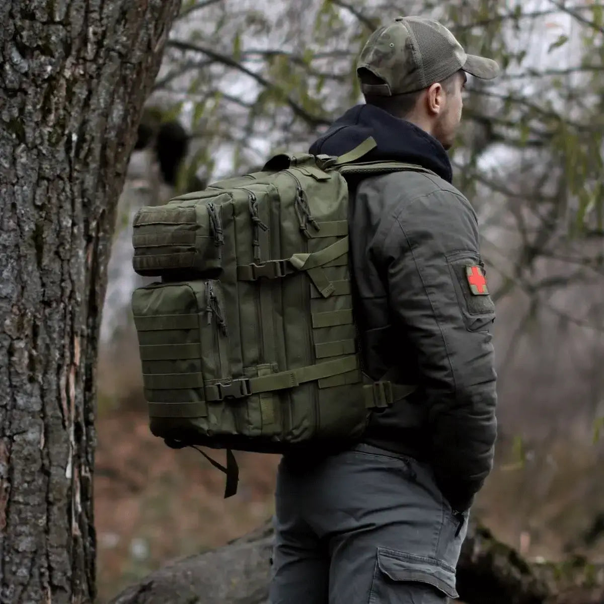
[[[444,604],[467,514],[428,465],[369,445],[307,469],[281,460],[270,604]]]

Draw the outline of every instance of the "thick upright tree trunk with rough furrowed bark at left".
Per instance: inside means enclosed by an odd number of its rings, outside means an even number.
[[[0,603],[95,596],[115,207],[179,0],[0,4]]]

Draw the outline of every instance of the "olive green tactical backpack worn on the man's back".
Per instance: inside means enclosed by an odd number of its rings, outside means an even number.
[[[143,207],[132,295],[150,429],[169,446],[286,453],[358,439],[373,408],[412,388],[359,367],[344,175],[419,166],[277,155],[262,172]],[[357,162],[357,163],[352,163]],[[205,455],[205,454],[204,454]],[[207,457],[207,455],[206,455]]]

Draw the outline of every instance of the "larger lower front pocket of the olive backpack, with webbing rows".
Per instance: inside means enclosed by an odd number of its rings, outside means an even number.
[[[233,414],[208,400],[230,375],[217,281],[153,283],[132,295],[150,428],[163,438],[236,431]],[[219,398],[214,396],[214,398]]]

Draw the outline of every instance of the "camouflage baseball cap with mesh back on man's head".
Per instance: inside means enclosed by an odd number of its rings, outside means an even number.
[[[499,74],[495,61],[466,54],[444,25],[422,17],[397,17],[374,31],[361,52],[357,73],[362,68],[384,82],[361,79],[364,94],[387,97],[428,88],[460,69],[483,80]]]

